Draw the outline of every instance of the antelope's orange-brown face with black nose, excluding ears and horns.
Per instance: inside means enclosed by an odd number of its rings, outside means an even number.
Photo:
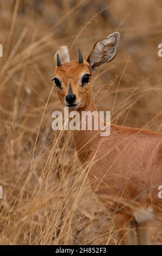
[[[63,106],[77,109],[86,105],[91,93],[91,73],[91,67],[85,61],[82,64],[65,62],[55,68],[54,83]]]

